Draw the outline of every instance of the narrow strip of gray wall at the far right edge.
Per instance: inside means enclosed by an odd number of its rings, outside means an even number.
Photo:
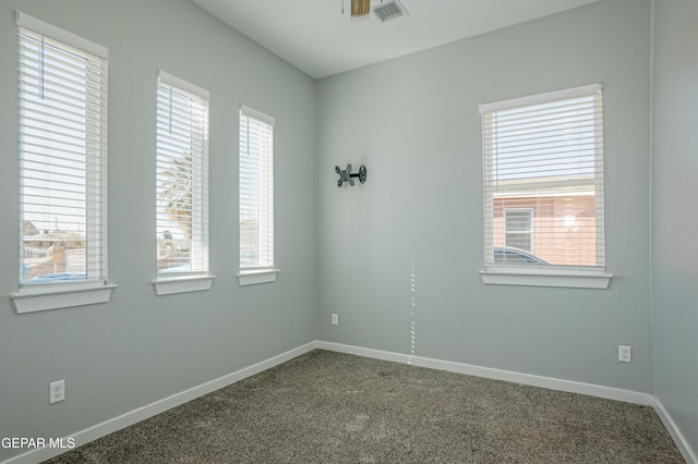
[[[698,452],[698,2],[654,15],[652,333],[654,389]]]

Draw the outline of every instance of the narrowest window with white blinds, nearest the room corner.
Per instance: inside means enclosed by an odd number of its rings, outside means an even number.
[[[240,270],[274,268],[274,118],[240,109]]]

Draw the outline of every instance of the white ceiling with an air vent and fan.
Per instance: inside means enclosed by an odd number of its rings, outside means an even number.
[[[352,20],[350,0],[192,1],[322,78],[599,0],[400,0],[409,15],[385,23]]]

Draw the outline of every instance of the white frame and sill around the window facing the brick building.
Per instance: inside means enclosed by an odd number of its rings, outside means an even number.
[[[568,88],[564,90],[550,91],[545,94],[532,95],[528,97],[515,98],[510,100],[483,103],[480,106],[482,114],[483,131],[483,221],[484,221],[484,270],[481,277],[486,284],[507,285],[534,285],[534,286],[566,286],[566,288],[588,288],[606,289],[612,276],[605,272],[604,264],[604,227],[603,227],[603,150],[595,150],[597,171],[594,174],[595,188],[595,211],[597,211],[597,261],[598,266],[541,266],[515,264],[506,265],[495,262],[493,259],[493,231],[494,231],[494,203],[495,192],[506,188],[490,175],[493,172],[493,151],[489,145],[489,137],[494,131],[488,118],[492,118],[497,111],[519,109],[529,106],[543,105],[553,101],[574,99],[587,96],[598,96],[601,98],[601,84],[591,84],[581,87]],[[602,118],[600,114],[598,118]],[[602,123],[601,123],[602,126]],[[597,144],[603,146],[602,134],[597,134]],[[571,184],[579,181],[571,181]],[[570,184],[570,185],[571,185]]]

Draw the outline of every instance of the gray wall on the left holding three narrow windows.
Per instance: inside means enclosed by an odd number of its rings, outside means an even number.
[[[17,315],[14,10],[106,46],[109,304]],[[316,83],[185,0],[0,3],[0,437],[67,437],[316,339]],[[157,297],[156,70],[210,91],[208,292]],[[240,288],[238,110],[277,121],[277,282]],[[48,404],[65,379],[67,400]],[[0,461],[11,450],[0,449]]]

